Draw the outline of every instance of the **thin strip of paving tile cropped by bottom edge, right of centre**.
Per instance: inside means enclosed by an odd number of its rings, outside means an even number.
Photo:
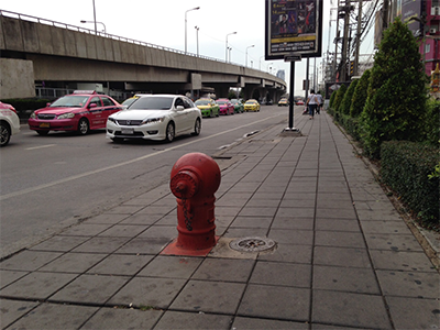
[[[237,317],[231,329],[242,330],[308,330],[305,322]]]

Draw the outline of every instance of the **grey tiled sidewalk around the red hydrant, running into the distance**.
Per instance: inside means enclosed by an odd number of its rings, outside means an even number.
[[[0,262],[0,328],[439,329],[440,275],[374,176],[326,112],[295,120],[219,155],[207,257],[160,254],[164,184]],[[276,249],[229,251],[246,237]]]

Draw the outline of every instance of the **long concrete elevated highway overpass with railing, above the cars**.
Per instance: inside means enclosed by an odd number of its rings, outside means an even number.
[[[0,99],[35,97],[35,87],[119,92],[208,92],[230,88],[278,100],[286,82],[219,59],[185,54],[64,23],[0,10]]]

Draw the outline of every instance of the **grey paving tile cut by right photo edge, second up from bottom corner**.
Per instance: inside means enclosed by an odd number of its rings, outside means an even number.
[[[437,272],[377,271],[376,273],[385,296],[432,299],[440,297],[440,275]]]

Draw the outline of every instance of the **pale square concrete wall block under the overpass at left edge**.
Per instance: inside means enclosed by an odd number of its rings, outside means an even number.
[[[0,99],[35,96],[32,61],[0,58]]]

